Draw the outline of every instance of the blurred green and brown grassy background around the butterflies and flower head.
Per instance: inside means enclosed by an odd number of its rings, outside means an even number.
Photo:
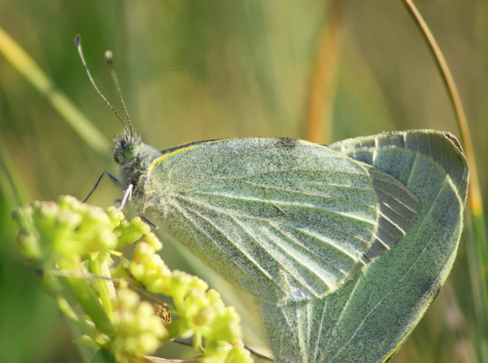
[[[488,2],[422,0],[420,12],[459,87],[487,191]],[[135,131],[164,150],[204,139],[289,136],[330,143],[383,131],[432,128],[459,136],[447,92],[400,1],[0,0],[0,27],[56,89],[39,92],[0,53],[0,362],[81,362],[70,327],[15,249],[10,209],[61,194],[83,199],[103,170],[116,173],[122,112],[103,61],[114,53]],[[2,35],[3,37],[3,35]],[[60,91],[105,138],[97,153],[46,98]],[[8,170],[8,173],[6,172]],[[119,192],[102,180],[90,199]],[[486,200],[486,198],[484,198]],[[485,207],[486,204],[485,204]],[[458,258],[438,297],[390,362],[487,358],[486,325],[469,215]],[[199,274],[243,316],[246,343],[266,349],[257,304],[165,243],[171,268]],[[481,314],[481,315],[480,315]],[[165,348],[168,358],[173,345]]]

